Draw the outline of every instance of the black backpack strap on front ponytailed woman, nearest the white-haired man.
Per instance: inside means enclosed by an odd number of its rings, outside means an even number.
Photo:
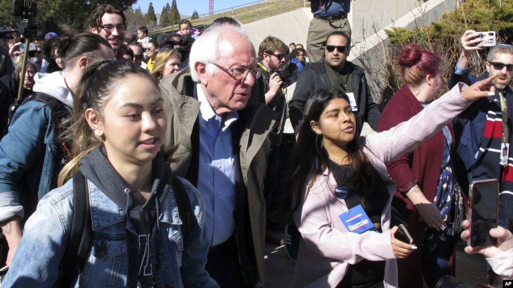
[[[174,199],[176,200],[176,207],[178,208],[178,214],[180,215],[180,220],[182,220],[182,226],[180,230],[182,232],[182,238],[184,239],[184,243],[192,233],[196,225],[198,225],[198,221],[196,220],[196,216],[192,211],[191,201],[189,199],[189,195],[185,190],[184,184],[178,177],[173,175],[171,180],[171,187],[173,189]]]

